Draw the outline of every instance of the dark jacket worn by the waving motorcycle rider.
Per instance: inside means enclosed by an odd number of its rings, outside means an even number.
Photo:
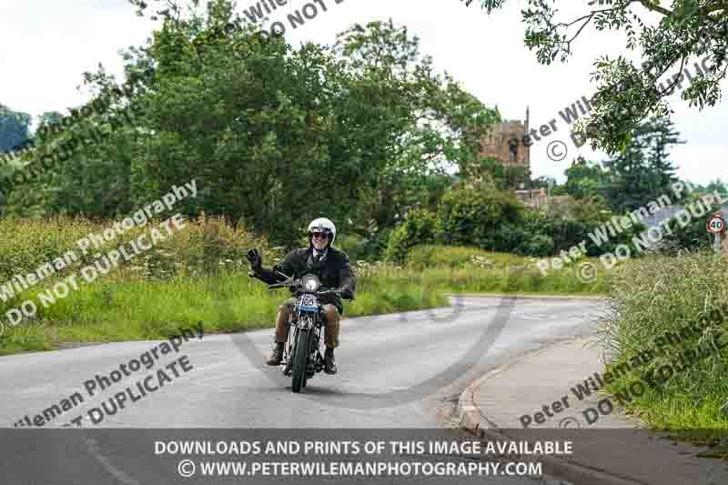
[[[258,279],[272,285],[286,279],[278,275],[276,271],[280,271],[294,279],[314,274],[319,278],[322,287],[331,289],[349,288],[352,293],[354,292],[357,288],[357,279],[351,271],[349,257],[346,253],[337,248],[329,247],[326,258],[321,259],[316,264],[313,263],[312,253],[313,248],[294,249],[272,269],[263,268]],[[338,295],[325,295],[321,297],[321,303],[330,303],[339,308],[340,314],[344,313],[344,305]]]

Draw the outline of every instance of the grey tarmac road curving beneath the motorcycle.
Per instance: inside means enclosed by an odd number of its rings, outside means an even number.
[[[0,390],[0,422],[7,428],[18,424],[27,430],[25,423],[38,419],[43,429],[71,424],[66,431],[75,432],[81,432],[80,425],[86,429],[85,460],[94,461],[94,470],[100,474],[93,482],[106,483],[102,477],[110,477],[109,483],[127,485],[147,482],[107,470],[103,463],[110,462],[99,459],[106,455],[98,450],[108,450],[109,445],[98,437],[89,441],[89,433],[113,428],[170,432],[210,428],[451,429],[457,397],[472,380],[554,341],[593,334],[593,319],[602,311],[602,302],[589,298],[467,297],[452,301],[456,310],[342,320],[336,353],[339,373],[317,374],[301,394],[290,391],[290,378],[283,377],[279,369],[263,365],[271,330],[183,340],[178,351],[165,355],[161,341],[143,341],[2,357],[0,379],[5,385]],[[154,364],[149,369],[141,364],[141,369],[132,371],[130,362],[151,349],[157,350]],[[101,390],[104,378],[113,379],[112,370],[120,369],[121,364],[130,375]],[[162,376],[159,369],[164,369]],[[120,375],[116,372],[116,377]],[[118,397],[114,400],[115,394],[124,397],[123,409],[115,405],[120,403]],[[45,409],[53,405],[61,411],[48,414]],[[8,439],[8,432],[23,430],[0,431],[5,433],[0,445]],[[62,432],[54,431],[56,437]],[[66,451],[73,454],[74,446],[67,445]],[[122,455],[115,455],[116,460],[123,461]],[[18,451],[16,457],[20,456]],[[24,461],[30,460],[32,468],[33,454],[22,456]],[[137,465],[141,467],[141,463]],[[79,464],[76,473],[87,479],[84,470],[91,470],[90,466]],[[0,467],[3,469],[7,470]],[[149,465],[145,470],[151,473],[154,469]],[[3,481],[21,483],[20,475],[17,477],[18,481]],[[79,483],[92,482],[86,479]],[[509,480],[503,482],[532,483]]]

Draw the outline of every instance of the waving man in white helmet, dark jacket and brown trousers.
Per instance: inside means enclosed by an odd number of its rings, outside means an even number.
[[[353,299],[356,278],[346,253],[332,247],[334,239],[334,223],[326,217],[314,219],[308,224],[308,248],[292,250],[272,269],[262,267],[263,258],[258,248],[248,250],[247,257],[252,268],[250,275],[271,285],[286,279],[280,273],[294,279],[314,274],[319,278],[322,287],[341,288],[343,298]],[[344,313],[344,306],[338,295],[322,295],[320,301],[326,315],[324,371],[327,374],[336,374],[334,349],[339,347],[339,320]],[[283,347],[288,341],[288,318],[294,310],[294,304],[295,300],[290,298],[278,307],[275,347],[266,362],[269,366],[278,366],[283,359]]]

